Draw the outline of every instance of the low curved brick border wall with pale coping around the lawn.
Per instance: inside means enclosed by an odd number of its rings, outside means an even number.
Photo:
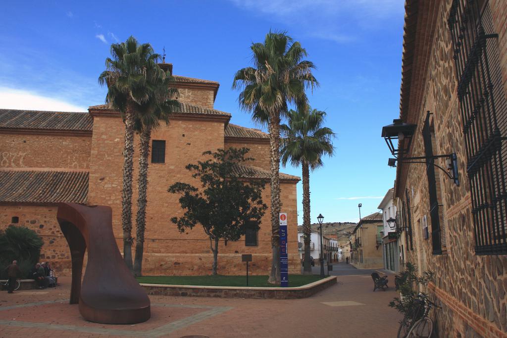
[[[336,284],[336,276],[298,287],[243,287],[146,284],[141,286],[151,295],[215,298],[306,298]]]

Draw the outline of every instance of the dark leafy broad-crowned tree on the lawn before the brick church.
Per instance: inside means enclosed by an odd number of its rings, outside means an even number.
[[[247,229],[258,230],[267,209],[262,201],[265,182],[237,177],[237,166],[253,160],[245,158],[247,152],[247,148],[204,152],[203,156],[211,158],[185,167],[201,181],[202,189],[184,182],[176,182],[168,189],[169,193],[181,195],[179,203],[185,210],[182,217],[171,218],[178,230],[183,233],[199,223],[208,235],[213,275],[218,267],[219,240],[237,241]]]

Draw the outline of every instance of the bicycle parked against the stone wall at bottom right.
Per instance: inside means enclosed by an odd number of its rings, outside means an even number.
[[[433,333],[433,321],[428,317],[432,307],[439,308],[425,295],[419,294],[398,329],[398,338],[429,338]]]

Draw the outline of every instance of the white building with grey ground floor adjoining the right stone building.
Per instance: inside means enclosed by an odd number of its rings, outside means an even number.
[[[398,233],[396,232],[394,223],[391,226],[387,223],[389,218],[396,219],[396,206],[393,204],[393,192],[394,188],[389,189],[378,206],[378,208],[382,210],[384,222],[384,231],[382,232],[382,260],[384,269],[392,272],[400,272],[401,264],[403,264],[403,257],[400,257],[400,252],[403,252],[403,250],[399,247],[399,241],[397,239]]]

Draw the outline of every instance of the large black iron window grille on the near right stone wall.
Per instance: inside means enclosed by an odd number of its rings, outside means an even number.
[[[507,254],[507,100],[488,1],[453,1],[449,30],[476,254]]]

